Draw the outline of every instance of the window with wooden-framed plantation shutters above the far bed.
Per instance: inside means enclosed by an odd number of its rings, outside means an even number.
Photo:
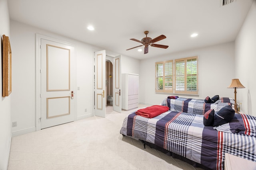
[[[157,62],[156,92],[198,94],[198,56]]]

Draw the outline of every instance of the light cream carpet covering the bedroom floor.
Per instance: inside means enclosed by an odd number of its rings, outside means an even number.
[[[122,122],[132,111],[118,113],[108,106],[106,118],[89,117],[13,137],[8,170],[201,170],[123,137]]]

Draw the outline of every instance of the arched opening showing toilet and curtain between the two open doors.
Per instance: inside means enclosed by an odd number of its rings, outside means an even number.
[[[113,106],[113,64],[106,59],[106,106]]]

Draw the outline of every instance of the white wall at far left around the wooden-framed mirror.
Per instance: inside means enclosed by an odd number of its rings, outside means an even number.
[[[10,21],[7,0],[0,0],[0,35],[1,43],[2,37],[6,35],[10,39],[12,45],[12,39],[10,37]],[[0,51],[2,51],[2,45],[0,45]],[[0,53],[2,59],[2,53]],[[0,60],[0,66],[2,66],[2,60]],[[2,96],[2,69],[0,69],[0,94]],[[1,97],[0,99],[0,170],[6,170],[8,167],[8,159],[11,147],[11,97]]]

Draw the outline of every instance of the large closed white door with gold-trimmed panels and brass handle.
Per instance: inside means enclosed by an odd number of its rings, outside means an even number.
[[[74,46],[41,39],[41,129],[74,121]]]

